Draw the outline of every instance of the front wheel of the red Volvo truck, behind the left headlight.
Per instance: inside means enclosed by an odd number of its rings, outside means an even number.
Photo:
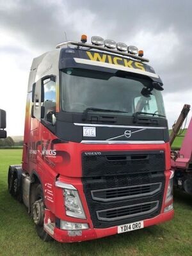
[[[44,193],[41,184],[33,184],[31,188],[31,215],[36,226],[36,232],[43,241],[51,241],[52,237],[44,230]]]

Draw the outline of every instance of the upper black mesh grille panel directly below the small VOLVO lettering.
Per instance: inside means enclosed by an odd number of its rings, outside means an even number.
[[[141,172],[163,172],[164,152],[101,152],[99,156],[82,156],[83,177]]]

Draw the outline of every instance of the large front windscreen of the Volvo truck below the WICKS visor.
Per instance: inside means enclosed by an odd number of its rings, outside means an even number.
[[[114,110],[114,115],[132,116],[144,112],[145,115],[154,113],[157,114],[155,117],[164,118],[161,92],[153,89],[145,95],[143,88],[152,88],[152,81],[125,72],[122,76],[118,72],[65,68],[61,72],[61,107],[63,111],[73,113],[99,108]]]

